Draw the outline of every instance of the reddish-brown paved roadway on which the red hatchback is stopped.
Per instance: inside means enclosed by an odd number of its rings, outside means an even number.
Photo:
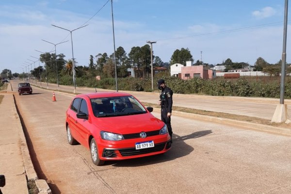
[[[173,115],[169,152],[95,166],[89,150],[66,140],[72,96],[57,93],[53,102],[51,91],[34,87],[15,97],[35,169],[53,194],[291,193],[290,137]]]

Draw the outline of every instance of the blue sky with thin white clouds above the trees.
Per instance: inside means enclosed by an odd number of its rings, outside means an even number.
[[[283,51],[284,7],[285,0],[113,0],[115,49],[128,54],[156,41],[153,52],[163,62],[188,48],[195,62],[216,65],[230,58],[254,65],[262,57],[275,64]],[[0,72],[43,66],[38,51],[54,51],[58,43],[56,53],[72,59],[69,31],[84,25],[72,32],[78,65],[114,51],[111,0],[0,0],[0,10]],[[287,32],[287,63],[290,43]]]

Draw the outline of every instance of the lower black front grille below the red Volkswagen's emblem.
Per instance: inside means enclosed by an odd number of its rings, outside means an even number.
[[[134,155],[162,151],[163,148],[165,147],[165,144],[166,143],[155,144],[154,147],[149,147],[145,149],[135,149],[135,147],[133,147],[133,148],[118,149],[118,151],[120,152],[122,156],[134,156]]]

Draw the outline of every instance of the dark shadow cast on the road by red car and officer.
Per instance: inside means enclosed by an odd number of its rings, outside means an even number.
[[[175,160],[180,157],[187,156],[194,150],[192,146],[189,146],[184,142],[185,140],[203,137],[210,133],[212,133],[211,130],[202,130],[184,136],[173,134],[172,148],[164,154],[124,161],[106,161],[105,165],[112,165],[115,167],[145,166]]]

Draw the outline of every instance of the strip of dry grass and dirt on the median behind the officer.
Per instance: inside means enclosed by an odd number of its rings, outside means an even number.
[[[161,108],[157,104],[152,104],[152,103],[148,103],[148,102],[142,102],[142,103],[145,106],[150,106],[150,107],[154,107],[154,108]],[[244,115],[238,115],[238,114],[212,112],[212,111],[191,109],[191,108],[178,107],[178,106],[173,106],[172,110],[173,111],[185,112],[185,113],[194,113],[194,114],[201,114],[201,115],[206,115],[206,116],[227,118],[227,119],[232,119],[232,120],[237,120],[237,121],[246,121],[246,122],[250,122],[250,123],[258,123],[258,124],[262,124],[262,125],[270,125],[270,126],[275,126],[275,127],[291,128],[291,123],[289,123],[289,124],[286,124],[286,123],[272,123],[270,120],[263,119],[263,118],[258,118],[258,117],[252,117],[252,116],[244,116]]]

